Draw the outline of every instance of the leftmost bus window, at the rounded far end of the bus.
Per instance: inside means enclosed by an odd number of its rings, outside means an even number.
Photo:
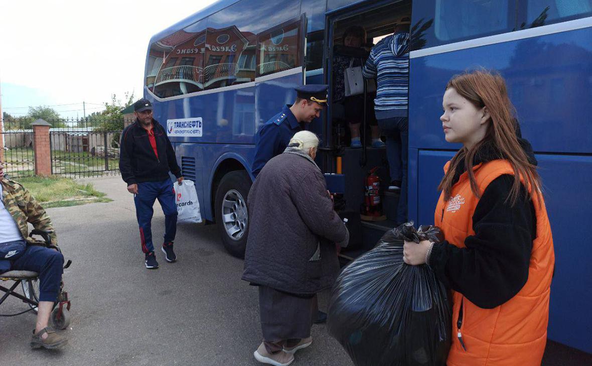
[[[203,90],[205,21],[199,21],[150,46],[146,86],[167,98]]]

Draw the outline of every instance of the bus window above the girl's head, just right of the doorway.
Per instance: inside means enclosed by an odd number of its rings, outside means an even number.
[[[514,0],[415,0],[411,50],[516,30]]]

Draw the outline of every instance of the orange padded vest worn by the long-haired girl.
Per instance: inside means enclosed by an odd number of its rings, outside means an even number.
[[[445,166],[448,169],[449,163]],[[474,166],[482,195],[498,176],[514,174],[507,160]],[[452,346],[448,366],[540,366],[547,339],[549,293],[555,255],[551,226],[540,192],[531,192],[536,213],[536,238],[526,284],[510,300],[494,309],[482,309],[463,294],[452,291]],[[506,197],[500,197],[505,200]],[[465,248],[467,236],[475,235],[472,216],[479,202],[464,172],[452,187],[451,199],[440,195],[435,223],[449,243]],[[461,311],[462,308],[462,311]],[[460,315],[460,316],[459,316]],[[460,318],[460,319],[459,319]]]

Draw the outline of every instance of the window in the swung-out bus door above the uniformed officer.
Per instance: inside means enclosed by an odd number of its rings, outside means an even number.
[[[258,77],[303,66],[302,22],[303,18],[294,18],[258,34]]]

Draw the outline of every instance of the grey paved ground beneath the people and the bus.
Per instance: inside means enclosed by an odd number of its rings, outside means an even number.
[[[258,365],[252,356],[260,342],[257,291],[240,280],[243,262],[224,252],[215,227],[179,226],[179,261],[168,264],[159,255],[160,268],[149,271],[132,195],[118,176],[92,182],[114,201],[48,210],[60,246],[73,260],[65,271],[72,300],[69,345],[33,351],[33,314],[2,317],[0,365]],[[153,236],[159,242],[164,220],[156,207]],[[326,301],[322,294],[321,309]],[[24,306],[10,300],[0,313]],[[294,365],[352,365],[326,326],[313,326],[313,338]],[[590,364],[592,355],[556,343],[549,343],[543,362]]]

